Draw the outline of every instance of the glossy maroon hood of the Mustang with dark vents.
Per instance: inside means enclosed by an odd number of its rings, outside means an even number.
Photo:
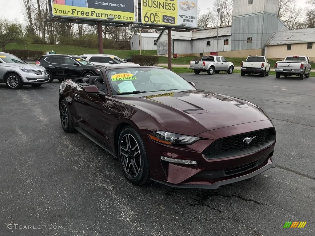
[[[187,135],[269,120],[247,101],[201,90],[128,97],[125,101],[152,115],[167,131]]]

